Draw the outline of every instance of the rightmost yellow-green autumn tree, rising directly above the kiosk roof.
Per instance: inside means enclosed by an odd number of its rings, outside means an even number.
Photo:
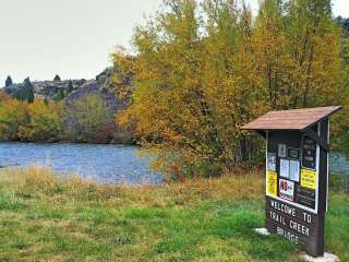
[[[329,0],[265,0],[253,37],[273,108],[342,105],[332,121],[336,140],[349,127],[348,44],[341,34]]]

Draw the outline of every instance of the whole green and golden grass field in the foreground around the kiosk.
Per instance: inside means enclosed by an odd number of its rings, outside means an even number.
[[[0,261],[298,261],[264,224],[262,175],[98,186],[48,169],[0,172]],[[349,194],[330,192],[326,249],[349,261]]]

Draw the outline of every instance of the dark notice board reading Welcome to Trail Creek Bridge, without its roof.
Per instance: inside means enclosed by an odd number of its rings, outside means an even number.
[[[313,131],[317,132],[318,128],[314,127]],[[317,183],[320,145],[300,132],[267,132],[266,139],[266,227],[303,245],[315,255],[321,230]],[[309,147],[311,152],[306,150]],[[305,158],[304,154],[310,157]],[[270,166],[268,164],[274,155],[275,166]]]

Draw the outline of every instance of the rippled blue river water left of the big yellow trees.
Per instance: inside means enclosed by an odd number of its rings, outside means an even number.
[[[149,157],[130,145],[0,143],[0,166],[38,164],[58,174],[79,174],[99,182],[161,183],[148,168]]]

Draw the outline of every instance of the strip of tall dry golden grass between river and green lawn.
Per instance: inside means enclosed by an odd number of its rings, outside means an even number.
[[[56,176],[49,167],[31,165],[27,168],[3,169],[0,188],[21,192],[24,195],[63,195],[80,200],[103,200],[118,205],[181,205],[202,201],[255,200],[263,195],[263,175],[225,175],[212,179],[192,179],[182,183],[169,182],[163,186],[101,184],[86,181],[76,175],[64,178]]]

